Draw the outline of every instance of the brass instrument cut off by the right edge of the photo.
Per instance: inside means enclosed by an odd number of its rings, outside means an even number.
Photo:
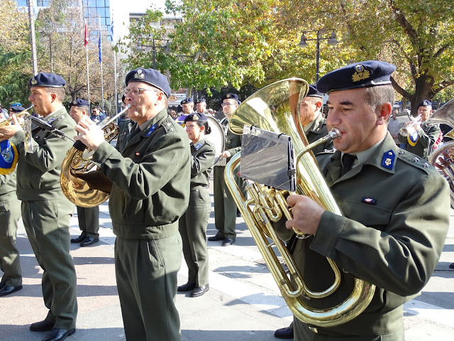
[[[454,128],[454,99],[444,104],[427,121],[429,124],[448,124]],[[454,129],[443,137],[454,139]],[[428,162],[448,180],[451,207],[454,207],[454,141],[438,146],[428,157]]]

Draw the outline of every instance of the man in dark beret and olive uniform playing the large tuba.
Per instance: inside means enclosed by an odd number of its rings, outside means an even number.
[[[341,269],[336,295],[304,303],[332,308],[352,292],[353,278],[376,286],[372,301],[353,320],[332,327],[294,321],[295,340],[404,340],[403,304],[426,285],[449,227],[449,188],[426,161],[399,149],[387,131],[394,90],[389,63],[369,60],[329,72],[317,82],[328,93],[328,129],[341,131],[336,151],[319,165],[343,216],[304,195],[289,195],[293,219],[285,225],[309,238],[289,248],[307,285],[333,283],[326,258]],[[283,232],[284,230],[280,230]],[[317,302],[314,302],[317,301]]]

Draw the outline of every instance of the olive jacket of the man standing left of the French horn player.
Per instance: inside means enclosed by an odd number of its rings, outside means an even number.
[[[65,107],[43,117],[55,129],[71,138],[75,122]],[[44,131],[32,123],[33,153],[26,153],[23,141],[26,131],[19,130],[10,141],[19,152],[17,166],[17,197],[19,200],[59,200],[65,198],[60,187],[62,162],[73,142]]]

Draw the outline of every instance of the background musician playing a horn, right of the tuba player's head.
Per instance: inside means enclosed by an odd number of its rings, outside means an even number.
[[[433,151],[433,146],[440,136],[438,124],[427,124],[427,120],[432,114],[432,103],[427,99],[418,104],[418,116],[416,124],[409,122],[409,128],[401,129],[398,139],[406,143],[405,150],[428,160],[428,156]]]

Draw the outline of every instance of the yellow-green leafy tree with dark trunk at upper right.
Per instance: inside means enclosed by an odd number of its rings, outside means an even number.
[[[441,92],[451,92],[452,0],[282,0],[277,13],[283,31],[298,26],[333,27],[342,32],[343,45],[354,49],[342,65],[365,59],[397,65],[392,84],[413,109],[423,99],[438,94],[443,98]]]

